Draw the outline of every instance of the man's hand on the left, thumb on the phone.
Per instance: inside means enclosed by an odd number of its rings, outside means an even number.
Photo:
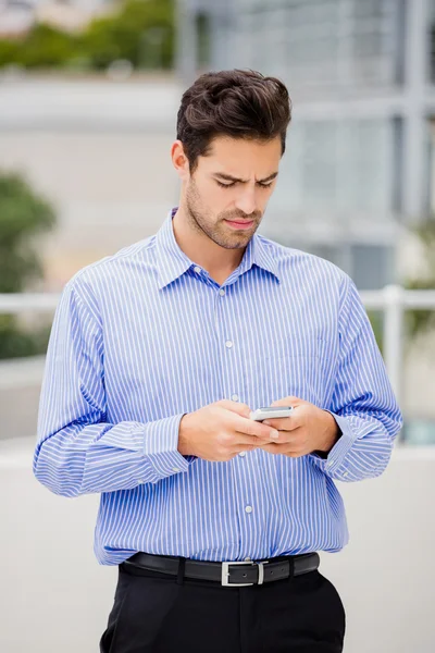
[[[184,415],[179,422],[178,452],[183,456],[226,461],[240,452],[277,440],[277,431],[250,419],[249,414],[246,404],[223,399]]]

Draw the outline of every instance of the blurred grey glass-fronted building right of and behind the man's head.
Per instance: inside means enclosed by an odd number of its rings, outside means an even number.
[[[434,0],[179,0],[183,77],[251,67],[294,101],[268,235],[395,279],[403,227],[434,210]]]

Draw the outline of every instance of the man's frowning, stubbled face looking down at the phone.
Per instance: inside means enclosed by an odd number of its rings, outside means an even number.
[[[216,137],[187,180],[194,229],[225,249],[246,247],[272,195],[281,156],[279,137],[269,143]]]

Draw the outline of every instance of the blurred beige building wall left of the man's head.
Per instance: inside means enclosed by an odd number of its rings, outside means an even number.
[[[0,169],[23,173],[57,210],[40,242],[46,289],[158,231],[178,197],[173,76],[24,76],[0,87]]]

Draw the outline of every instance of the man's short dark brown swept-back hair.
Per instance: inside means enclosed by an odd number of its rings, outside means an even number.
[[[204,73],[184,93],[177,115],[177,138],[190,170],[219,135],[271,140],[281,136],[285,151],[291,100],[285,85],[256,71]]]

